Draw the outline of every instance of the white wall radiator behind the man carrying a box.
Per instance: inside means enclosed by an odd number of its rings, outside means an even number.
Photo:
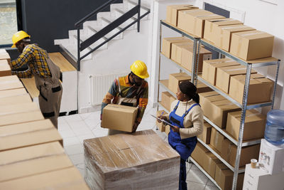
[[[106,95],[109,91],[111,83],[114,81],[114,79],[128,74],[129,73],[116,73],[111,75],[90,75],[90,104],[92,106],[102,104],[102,99],[104,98],[104,95]]]

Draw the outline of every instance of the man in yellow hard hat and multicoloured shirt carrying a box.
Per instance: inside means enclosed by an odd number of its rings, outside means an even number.
[[[148,83],[144,79],[148,78],[149,74],[146,64],[141,60],[136,60],[130,66],[130,69],[131,73],[129,75],[115,79],[111,84],[109,92],[104,96],[104,100],[102,100],[102,110],[111,102],[118,105],[138,107],[136,122],[133,126],[133,132],[135,132],[148,104]],[[109,130],[109,134],[117,133],[121,132]]]

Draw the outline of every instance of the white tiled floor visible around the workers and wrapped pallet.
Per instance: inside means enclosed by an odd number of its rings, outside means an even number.
[[[147,107],[138,130],[153,129],[165,141],[167,136],[165,132],[159,132],[155,126],[155,118],[150,114],[155,115],[155,108]],[[64,148],[73,164],[80,170],[84,176],[84,149],[83,140],[94,137],[107,136],[107,129],[100,127],[99,120],[100,112],[92,112],[86,114],[77,114],[59,117],[58,131],[62,135]],[[207,176],[194,164],[187,163],[187,189],[190,190],[209,190],[218,189]]]

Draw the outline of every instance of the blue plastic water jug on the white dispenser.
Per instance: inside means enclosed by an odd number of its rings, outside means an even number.
[[[267,113],[264,137],[271,144],[284,143],[284,111],[271,110]]]

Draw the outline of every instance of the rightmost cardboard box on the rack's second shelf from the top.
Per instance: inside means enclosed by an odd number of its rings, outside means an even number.
[[[246,75],[232,76],[230,80],[229,95],[237,102],[243,102]],[[261,74],[252,74],[249,81],[248,104],[270,102],[273,93],[273,80],[265,78]]]

